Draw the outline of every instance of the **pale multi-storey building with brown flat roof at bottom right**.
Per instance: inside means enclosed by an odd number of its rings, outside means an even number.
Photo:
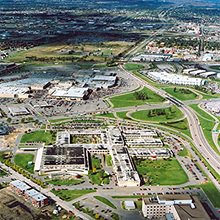
[[[173,195],[142,200],[142,213],[147,219],[209,220],[196,196]]]

